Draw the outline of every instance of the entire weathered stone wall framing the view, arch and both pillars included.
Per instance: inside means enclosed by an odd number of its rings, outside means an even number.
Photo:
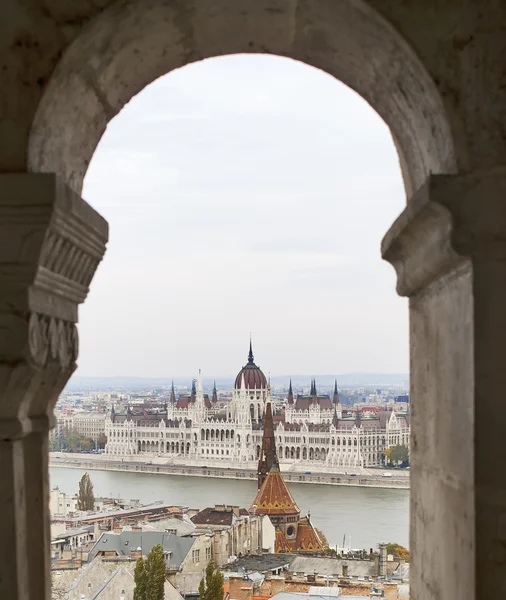
[[[47,431],[107,238],[62,186],[156,77],[265,52],[355,89],[399,150],[384,250],[411,298],[412,597],[506,597],[504,3],[12,0],[0,34],[0,172],[19,173],[0,179],[0,596],[49,597]]]

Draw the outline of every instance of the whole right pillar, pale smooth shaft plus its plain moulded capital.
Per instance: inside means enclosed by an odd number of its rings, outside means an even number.
[[[506,169],[432,176],[382,250],[410,307],[410,597],[505,598]]]

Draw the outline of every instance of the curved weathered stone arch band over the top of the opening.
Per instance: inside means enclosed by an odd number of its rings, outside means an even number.
[[[76,192],[107,123],[146,85],[185,64],[226,54],[277,54],[322,69],[389,125],[408,196],[430,173],[457,171],[435,82],[398,31],[367,2],[133,0],[102,11],[49,78],[28,143],[28,170],[54,172]],[[226,33],[225,33],[226,31]],[[345,35],[343,35],[345,33]]]

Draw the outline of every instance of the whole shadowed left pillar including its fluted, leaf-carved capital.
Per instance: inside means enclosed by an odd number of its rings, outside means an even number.
[[[48,433],[107,235],[54,175],[0,175],[0,598],[50,598]]]

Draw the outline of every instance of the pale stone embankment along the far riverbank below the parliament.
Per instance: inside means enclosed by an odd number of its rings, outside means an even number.
[[[98,471],[119,471],[132,473],[147,473],[159,475],[184,475],[187,477],[239,479],[255,481],[256,469],[207,466],[197,467],[176,464],[156,464],[131,460],[110,460],[104,455],[53,453],[49,455],[50,467],[63,467],[68,469],[85,469]],[[304,473],[283,470],[283,477],[288,483],[311,483],[317,485],[371,487],[384,489],[409,489],[409,476],[405,473],[391,473],[391,477],[384,477],[383,472],[378,474],[367,473],[317,473],[306,471]]]

